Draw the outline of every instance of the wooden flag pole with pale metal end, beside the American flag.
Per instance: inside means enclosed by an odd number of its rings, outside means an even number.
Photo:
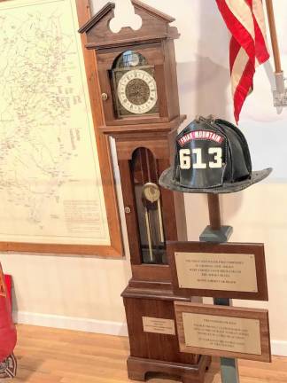
[[[275,24],[275,15],[273,8],[273,0],[266,0],[266,8],[268,12],[268,23],[269,23],[269,31],[271,37],[272,51],[275,63],[275,83],[276,90],[279,94],[284,93],[284,75],[281,66],[281,58],[279,51],[279,44],[277,38],[276,24]]]

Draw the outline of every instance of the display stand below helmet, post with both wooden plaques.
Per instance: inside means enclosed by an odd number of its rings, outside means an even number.
[[[169,242],[174,293],[210,296],[213,305],[175,301],[182,353],[221,357],[223,383],[239,383],[237,358],[270,362],[268,310],[232,308],[232,299],[268,301],[263,244],[227,243],[218,194],[208,195],[210,225],[200,242]]]

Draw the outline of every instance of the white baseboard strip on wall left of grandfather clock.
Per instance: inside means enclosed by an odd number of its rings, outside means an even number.
[[[121,322],[81,317],[63,317],[26,311],[14,311],[13,319],[17,324],[32,324],[43,327],[54,327],[82,332],[97,332],[109,335],[128,336],[127,324]]]

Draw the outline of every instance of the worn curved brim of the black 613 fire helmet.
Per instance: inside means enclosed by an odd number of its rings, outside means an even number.
[[[181,191],[187,193],[211,193],[211,194],[223,194],[223,193],[231,193],[236,191],[243,191],[244,189],[252,186],[252,184],[257,184],[260,181],[264,180],[264,178],[268,177],[272,172],[272,168],[266,168],[259,171],[253,171],[252,176],[249,179],[244,181],[240,181],[237,183],[224,183],[221,186],[208,188],[208,189],[196,189],[184,187],[181,184],[178,184],[174,181],[174,168],[167,168],[159,177],[159,184],[165,189],[169,189],[171,191]]]

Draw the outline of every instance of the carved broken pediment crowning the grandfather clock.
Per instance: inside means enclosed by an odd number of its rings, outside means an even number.
[[[105,4],[79,30],[87,35],[87,49],[105,49],[112,46],[125,46],[131,43],[151,43],[167,38],[177,38],[176,27],[169,24],[175,21],[174,18],[165,13],[159,12],[139,0],[132,0],[135,13],[142,19],[142,27],[133,30],[131,27],[122,27],[120,32],[114,33],[109,27],[110,21],[114,18],[114,3]]]

